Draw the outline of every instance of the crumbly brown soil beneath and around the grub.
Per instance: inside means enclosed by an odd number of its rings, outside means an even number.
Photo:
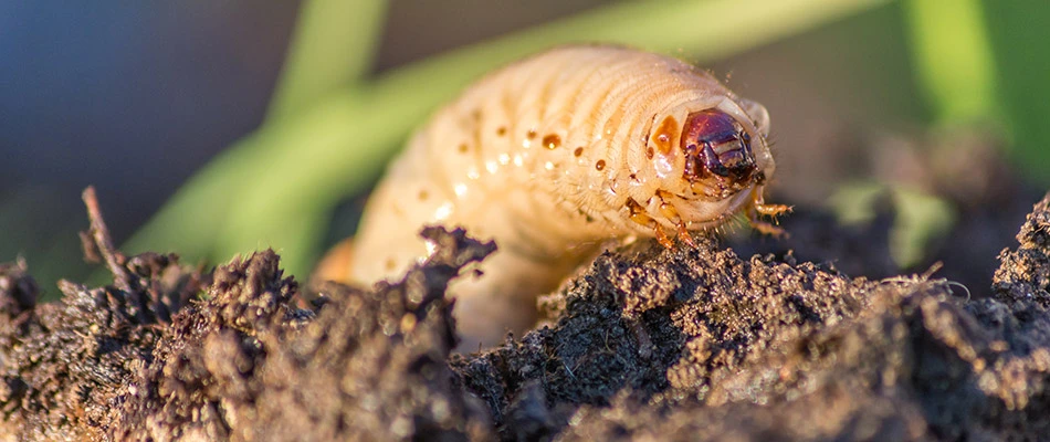
[[[891,211],[798,208],[786,243],[607,252],[473,355],[443,293],[494,245],[463,231],[426,230],[439,252],[400,282],[305,290],[272,251],[124,256],[85,200],[113,284],[38,304],[0,265],[0,440],[1050,440],[1050,194],[968,290],[893,273]]]

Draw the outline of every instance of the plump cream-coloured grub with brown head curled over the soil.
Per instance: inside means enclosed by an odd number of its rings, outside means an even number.
[[[566,46],[504,67],[437,112],[387,171],[354,243],[349,280],[393,278],[428,256],[427,224],[498,250],[450,287],[464,348],[535,319],[608,239],[671,236],[759,214],[774,171],[766,109],[708,73],[637,50]],[[669,233],[670,232],[670,233]]]

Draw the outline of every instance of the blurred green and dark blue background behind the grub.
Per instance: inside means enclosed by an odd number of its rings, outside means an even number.
[[[926,134],[986,134],[1044,186],[1048,24],[1043,0],[0,4],[0,260],[24,256],[52,293],[86,277],[94,183],[127,252],[274,246],[304,278],[428,113],[569,42],[676,55],[765,104],[781,199],[886,186],[858,159],[871,139]],[[900,200],[927,230],[951,222],[924,198]]]

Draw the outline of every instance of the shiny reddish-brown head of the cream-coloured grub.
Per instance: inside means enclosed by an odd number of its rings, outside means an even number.
[[[664,224],[718,222],[748,203],[775,169],[769,114],[758,103],[724,97],[675,106],[653,127],[647,157],[660,207],[649,212]]]

